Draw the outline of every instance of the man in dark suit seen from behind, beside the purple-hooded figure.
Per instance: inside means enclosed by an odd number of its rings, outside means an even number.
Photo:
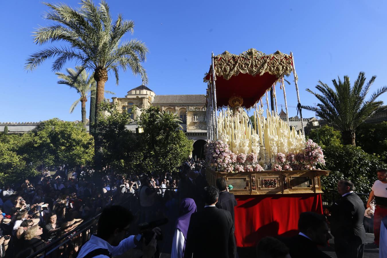
[[[219,191],[205,188],[205,208],[191,215],[185,246],[185,258],[234,258],[236,245],[231,214],[216,208]]]

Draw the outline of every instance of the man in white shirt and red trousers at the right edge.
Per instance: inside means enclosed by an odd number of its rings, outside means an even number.
[[[373,183],[372,191],[367,201],[367,208],[371,207],[371,202],[375,199],[375,212],[373,214],[373,234],[375,244],[379,245],[380,223],[387,216],[387,170],[378,169],[378,180]]]

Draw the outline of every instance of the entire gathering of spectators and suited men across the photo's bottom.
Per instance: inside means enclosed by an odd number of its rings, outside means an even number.
[[[88,179],[93,173],[87,167],[70,170],[60,166],[55,173],[45,169],[35,178],[12,186],[5,185],[0,192],[0,258],[27,257],[101,212],[97,234],[87,237],[91,238],[84,245],[86,247],[74,246],[72,253],[63,251],[59,256],[78,255],[82,258],[88,253],[94,255],[101,245],[103,253],[98,253],[99,250],[95,256],[119,255],[146,241],[141,234],[128,237],[128,227],[133,220],[138,219],[141,223],[168,217],[175,221],[172,258],[238,257],[234,217],[236,198],[229,193],[231,186],[224,178],[217,179],[216,186],[208,185],[203,161],[189,159],[174,174],[116,174],[106,167],[99,178],[101,180],[96,182]],[[377,214],[381,219],[387,210],[384,203],[387,196],[381,190],[386,188],[387,171],[380,169],[377,174],[378,181],[372,188],[368,203],[376,200]],[[257,246],[257,257],[310,257],[308,255],[313,254],[327,258],[329,256],[317,246],[326,244],[331,238],[328,224],[335,237],[337,257],[363,257],[364,204],[354,193],[350,181],[339,181],[337,189],[342,197],[330,208],[329,217],[313,212],[302,213],[297,236],[264,237]],[[136,197],[132,199],[138,210],[129,211],[115,205],[130,196]],[[112,221],[111,214],[116,212],[127,216]],[[153,237],[142,243],[143,257],[152,257],[156,251],[160,229],[155,227],[152,232]],[[378,240],[375,234],[375,243],[378,244]],[[308,251],[300,252],[305,248]]]

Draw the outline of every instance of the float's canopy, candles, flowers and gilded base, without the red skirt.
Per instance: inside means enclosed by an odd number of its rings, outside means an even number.
[[[225,177],[235,195],[322,193],[317,170],[322,149],[305,140],[293,54],[212,54],[207,82],[207,180]],[[285,76],[293,72],[301,130],[289,126]],[[276,85],[283,91],[286,120],[278,115]],[[273,89],[275,111],[268,91]],[[264,108],[263,102],[267,107]],[[244,109],[253,109],[250,120]],[[253,120],[253,121],[252,121]]]

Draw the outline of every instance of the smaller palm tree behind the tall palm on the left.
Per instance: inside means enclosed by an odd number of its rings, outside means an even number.
[[[57,82],[58,84],[68,85],[70,86],[70,88],[76,89],[77,92],[79,93],[80,98],[74,101],[74,103],[71,105],[70,113],[74,111],[75,107],[79,102],[82,103],[82,109],[81,109],[82,123],[83,123],[83,127],[86,129],[86,123],[87,123],[86,101],[87,101],[89,92],[91,93],[90,97],[95,97],[96,82],[94,80],[93,75],[89,77],[89,73],[86,73],[86,70],[82,70],[80,72],[81,69],[82,67],[76,66],[75,70],[72,68],[67,68],[66,69],[67,74],[64,74],[64,73],[55,73],[55,74],[58,75],[58,79],[61,79],[61,80],[58,80]],[[114,92],[110,92],[110,91],[105,91],[105,93],[114,94]]]

